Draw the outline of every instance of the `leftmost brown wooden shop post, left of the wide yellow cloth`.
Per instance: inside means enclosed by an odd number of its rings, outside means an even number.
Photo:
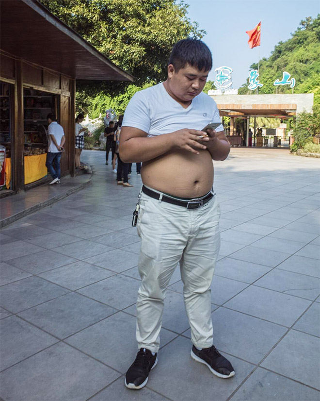
[[[12,152],[12,179],[13,189],[24,190],[24,124],[23,124],[23,71],[22,61],[15,61],[16,84],[15,84],[15,117],[13,132]]]

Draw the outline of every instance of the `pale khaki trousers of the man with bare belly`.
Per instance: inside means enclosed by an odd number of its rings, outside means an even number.
[[[166,288],[178,262],[192,343],[198,348],[211,347],[210,285],[220,248],[219,218],[216,196],[199,209],[188,210],[141,194],[137,224],[142,239],[136,330],[139,348],[159,351]]]

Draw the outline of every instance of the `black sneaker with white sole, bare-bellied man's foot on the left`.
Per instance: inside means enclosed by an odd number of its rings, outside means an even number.
[[[128,368],[126,373],[125,385],[128,388],[139,390],[148,382],[148,376],[151,369],[158,363],[157,354],[146,348],[140,348],[133,364]]]

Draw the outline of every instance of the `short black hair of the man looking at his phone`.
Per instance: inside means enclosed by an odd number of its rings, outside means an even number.
[[[196,67],[199,71],[209,71],[212,68],[212,56],[208,46],[199,39],[187,38],[176,42],[171,50],[169,64],[176,71],[187,64]]]

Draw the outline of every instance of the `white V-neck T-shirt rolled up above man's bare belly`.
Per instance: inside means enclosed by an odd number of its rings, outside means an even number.
[[[147,136],[169,134],[189,128],[202,130],[209,122],[220,122],[216,102],[206,93],[196,96],[186,109],[174,100],[162,83],[136,92],[128,103],[122,127],[134,127]],[[223,131],[219,125],[216,131]]]

